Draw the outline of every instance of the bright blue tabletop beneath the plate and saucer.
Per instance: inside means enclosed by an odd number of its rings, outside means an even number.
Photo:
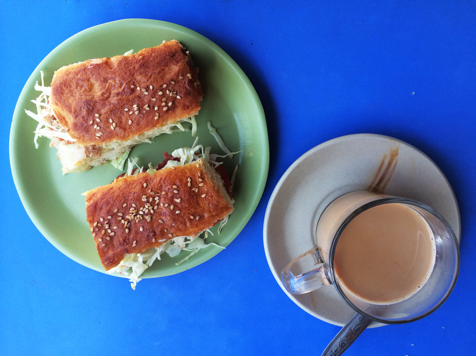
[[[229,53],[261,98],[270,140],[263,197],[229,248],[137,291],[57,251],[7,162],[10,118],[36,65],[76,32],[122,18],[174,22]],[[476,1],[2,1],[0,354],[320,355],[339,327],[282,292],[264,255],[264,212],[301,154],[373,132],[423,150],[450,181],[461,269],[433,314],[366,330],[346,355],[475,355],[475,44]]]

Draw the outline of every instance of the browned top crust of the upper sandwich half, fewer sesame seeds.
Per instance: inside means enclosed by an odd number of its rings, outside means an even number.
[[[193,116],[203,97],[197,70],[176,40],[62,67],[51,90],[56,118],[81,146],[128,140]]]

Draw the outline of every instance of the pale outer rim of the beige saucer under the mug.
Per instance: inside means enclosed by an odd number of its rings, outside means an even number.
[[[289,175],[296,169],[297,166],[299,166],[300,162],[302,162],[303,160],[307,159],[309,156],[313,155],[316,151],[322,149],[323,147],[326,147],[326,146],[329,146],[329,145],[332,145],[335,143],[335,141],[345,141],[346,139],[349,139],[349,138],[358,138],[358,137],[378,137],[378,138],[382,138],[382,139],[387,139],[387,140],[391,140],[391,141],[395,141],[397,143],[399,143],[400,145],[402,146],[407,146],[415,151],[417,151],[418,153],[420,153],[421,155],[423,155],[424,158],[426,158],[431,164],[433,164],[437,170],[440,172],[441,174],[441,177],[444,179],[444,181],[446,182],[446,184],[448,185],[449,189],[450,189],[450,192],[452,194],[452,197],[456,203],[456,212],[457,212],[457,222],[458,222],[458,230],[455,230],[455,234],[457,235],[457,239],[458,239],[458,243],[460,243],[460,240],[461,240],[461,215],[460,215],[460,211],[459,211],[459,206],[458,206],[458,200],[456,198],[456,194],[451,186],[451,184],[449,183],[448,181],[448,178],[446,178],[446,176],[444,175],[444,173],[441,171],[441,168],[430,158],[428,157],[428,155],[426,155],[422,150],[420,150],[419,148],[413,146],[413,145],[410,145],[408,144],[407,142],[403,141],[403,140],[400,140],[398,138],[395,138],[395,137],[391,137],[391,136],[388,136],[388,135],[382,135],[382,134],[378,134],[378,133],[353,133],[353,134],[348,134],[348,135],[344,135],[344,136],[339,136],[339,137],[335,137],[333,139],[330,139],[330,140],[327,140],[325,142],[322,142],[320,144],[318,144],[317,146],[314,146],[312,148],[310,148],[309,150],[307,150],[306,152],[304,152],[303,154],[301,154],[293,163],[291,163],[291,165],[289,165],[289,167],[284,171],[284,173],[282,174],[281,178],[278,180],[278,182],[276,183],[276,186],[274,187],[273,189],[273,192],[271,193],[270,197],[269,197],[269,200],[268,200],[268,203],[267,203],[267,206],[266,206],[266,211],[264,213],[264,221],[263,221],[263,245],[264,245],[264,254],[266,256],[266,262],[268,264],[268,267],[271,271],[271,274],[273,275],[273,277],[276,279],[276,282],[278,283],[278,285],[280,286],[280,288],[282,289],[282,291],[284,291],[284,293],[288,296],[289,299],[291,299],[298,307],[300,307],[301,309],[303,309],[304,311],[306,311],[308,314],[316,317],[317,319],[319,320],[322,320],[323,322],[326,322],[326,323],[329,323],[329,324],[333,324],[333,325],[336,325],[336,326],[343,326],[343,324],[340,324],[340,323],[337,323],[335,322],[334,320],[331,320],[331,319],[328,319],[324,316],[321,316],[321,315],[318,315],[317,312],[315,310],[311,310],[310,308],[306,307],[305,305],[303,305],[302,303],[300,303],[300,301],[298,301],[296,298],[293,297],[293,295],[291,293],[289,293],[288,291],[285,290],[285,288],[282,286],[282,283],[281,283],[281,279],[275,275],[274,273],[274,268],[272,267],[272,262],[271,262],[271,257],[270,257],[270,254],[269,254],[269,248],[268,248],[268,236],[267,236],[267,227],[268,227],[268,222],[269,222],[269,215],[271,214],[271,209],[272,209],[272,205],[276,199],[276,196],[278,195],[284,181],[289,177]],[[452,227],[453,228],[453,227]],[[343,303],[345,303],[343,300],[342,300]],[[370,324],[370,328],[373,328],[373,327],[380,327],[380,326],[386,326],[388,324],[382,324],[382,323],[372,323]]]

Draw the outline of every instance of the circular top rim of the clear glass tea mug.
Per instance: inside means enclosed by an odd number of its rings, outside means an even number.
[[[349,223],[357,216],[359,215],[360,213],[362,213],[363,211],[365,210],[369,210],[370,208],[374,208],[376,206],[379,206],[379,205],[383,205],[383,204],[390,204],[390,203],[400,203],[400,204],[408,204],[408,205],[414,205],[418,208],[421,208],[423,210],[426,210],[427,212],[429,212],[430,214],[434,215],[442,224],[443,226],[446,228],[446,230],[449,232],[451,238],[452,238],[452,241],[454,243],[454,246],[455,246],[455,250],[456,250],[456,254],[457,254],[457,266],[456,266],[456,271],[455,271],[455,275],[453,276],[453,280],[451,282],[451,285],[449,286],[449,288],[447,289],[447,291],[445,292],[445,294],[441,297],[441,299],[438,301],[438,303],[436,303],[433,307],[431,307],[430,309],[428,309],[427,311],[425,311],[424,313],[422,314],[418,314],[414,317],[411,317],[411,318],[406,318],[406,319],[398,319],[398,320],[389,320],[389,319],[382,319],[382,318],[379,318],[379,317],[376,317],[376,316],[373,316],[373,315],[370,315],[368,313],[366,313],[365,311],[361,310],[359,307],[355,306],[352,301],[347,297],[347,295],[344,293],[344,291],[342,290],[342,288],[340,287],[339,283],[337,282],[337,279],[335,278],[335,271],[334,271],[334,257],[335,257],[335,247],[337,245],[337,242],[342,234],[342,232],[344,231],[344,229],[347,227],[347,225],[349,225]],[[366,203],[364,205],[362,205],[361,207],[355,209],[343,222],[342,224],[340,224],[340,226],[338,227],[335,235],[334,235],[334,239],[332,241],[332,244],[331,244],[331,249],[330,249],[330,253],[329,253],[329,262],[328,262],[328,266],[329,266],[329,273],[331,275],[331,279],[332,279],[332,282],[335,286],[335,289],[337,290],[337,292],[339,293],[339,295],[342,297],[342,299],[344,299],[344,301],[350,306],[352,307],[356,312],[358,312],[359,314],[362,314],[363,316],[375,321],[375,322],[378,322],[378,323],[383,323],[383,324],[405,324],[405,323],[411,323],[411,322],[414,322],[414,321],[417,321],[417,320],[420,320],[426,316],[428,316],[429,314],[431,314],[432,312],[434,312],[436,309],[438,309],[439,307],[441,307],[441,305],[446,301],[446,299],[448,299],[449,295],[451,294],[451,292],[453,291],[453,289],[455,288],[455,285],[456,285],[456,281],[458,280],[458,275],[459,275],[459,264],[460,264],[460,255],[459,255],[459,243],[458,243],[458,239],[456,238],[456,234],[455,232],[453,231],[453,228],[448,224],[448,222],[446,221],[446,219],[436,210],[434,210],[433,208],[429,207],[428,205],[424,204],[424,203],[421,203],[417,200],[413,200],[413,199],[407,199],[407,198],[401,198],[401,197],[394,197],[394,196],[390,196],[390,197],[384,197],[384,198],[380,198],[380,199],[376,199],[376,200],[373,200],[369,203]]]

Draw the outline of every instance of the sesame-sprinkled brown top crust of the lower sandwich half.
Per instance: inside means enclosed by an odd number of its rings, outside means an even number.
[[[152,175],[117,178],[86,192],[89,227],[106,270],[126,254],[196,236],[232,211],[223,182],[201,159]]]

